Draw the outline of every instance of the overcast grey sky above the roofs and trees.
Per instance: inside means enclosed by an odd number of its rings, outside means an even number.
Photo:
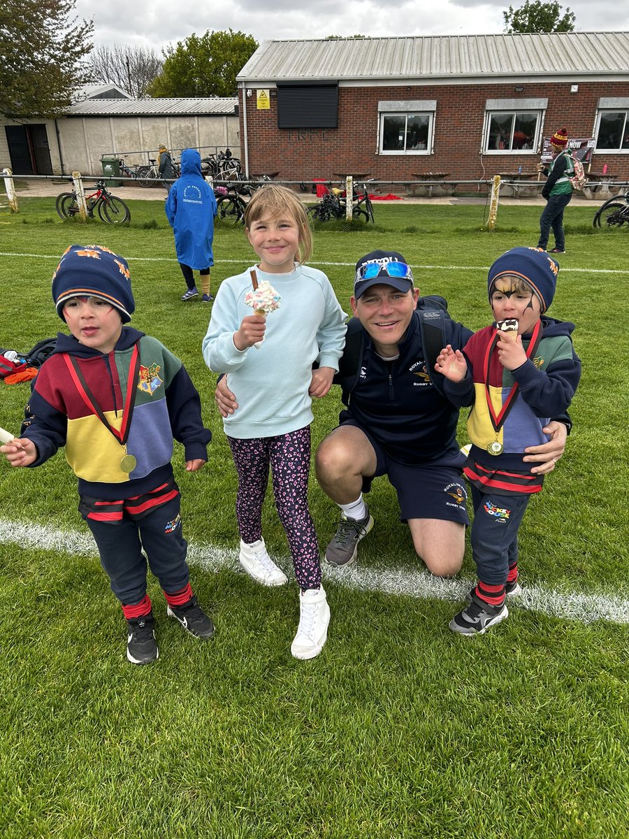
[[[81,18],[93,18],[95,43],[162,50],[196,32],[234,29],[257,41],[363,34],[463,35],[500,33],[502,12],[524,0],[77,0]],[[580,32],[629,30],[629,3],[572,0],[561,3]]]

